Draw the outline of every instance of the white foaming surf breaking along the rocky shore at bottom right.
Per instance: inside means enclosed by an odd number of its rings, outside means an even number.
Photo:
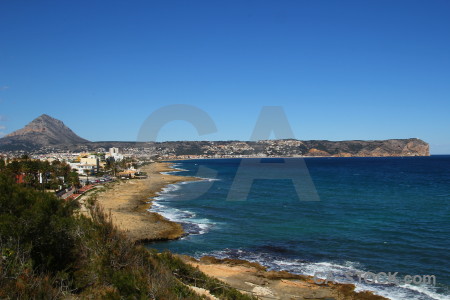
[[[285,270],[294,274],[314,276],[315,274],[333,274],[333,280],[339,283],[349,283],[345,274],[365,273],[362,265],[357,262],[346,261],[344,263],[335,262],[310,262],[301,259],[287,259],[274,254],[264,252],[250,252],[242,249],[225,249],[209,253],[199,252],[194,256],[200,258],[205,255],[217,258],[234,258],[257,262],[269,270]],[[367,284],[359,282],[357,278],[351,283],[356,286],[356,291],[372,291],[373,293],[392,300],[449,300],[450,295],[443,295],[436,292],[435,287],[425,285],[394,285],[394,284]]]

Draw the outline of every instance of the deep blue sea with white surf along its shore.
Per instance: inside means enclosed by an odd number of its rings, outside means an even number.
[[[152,210],[190,234],[149,246],[309,275],[435,275],[435,287],[357,286],[392,299],[450,299],[450,156],[304,161],[320,201],[301,201],[308,199],[299,199],[290,179],[264,179],[307,174],[292,159],[264,159],[239,176],[239,159],[176,161],[178,175],[209,180],[164,189]],[[245,201],[227,201],[235,177],[242,183],[245,176],[255,179]]]

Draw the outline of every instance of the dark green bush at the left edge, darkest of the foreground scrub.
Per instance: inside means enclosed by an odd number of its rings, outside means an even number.
[[[21,245],[34,269],[57,272],[74,261],[74,202],[13,184],[0,176],[0,241]],[[20,249],[17,249],[20,251]]]

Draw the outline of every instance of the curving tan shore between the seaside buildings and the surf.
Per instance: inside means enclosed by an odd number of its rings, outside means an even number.
[[[110,213],[113,223],[135,242],[177,239],[184,235],[180,224],[149,212],[151,198],[168,184],[198,180],[195,177],[161,174],[174,171],[170,163],[157,162],[141,168],[147,179],[116,182],[98,193],[98,204]]]

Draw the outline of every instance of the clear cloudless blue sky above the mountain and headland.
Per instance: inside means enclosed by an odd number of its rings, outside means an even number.
[[[0,135],[41,114],[92,141],[421,138],[450,154],[450,1],[0,1]],[[276,120],[274,120],[276,122]],[[275,137],[272,135],[272,137]]]

